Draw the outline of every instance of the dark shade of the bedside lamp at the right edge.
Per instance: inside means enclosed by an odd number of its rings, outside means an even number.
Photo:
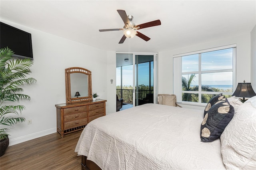
[[[232,96],[250,98],[256,96],[256,93],[253,91],[251,83],[238,83]]]

